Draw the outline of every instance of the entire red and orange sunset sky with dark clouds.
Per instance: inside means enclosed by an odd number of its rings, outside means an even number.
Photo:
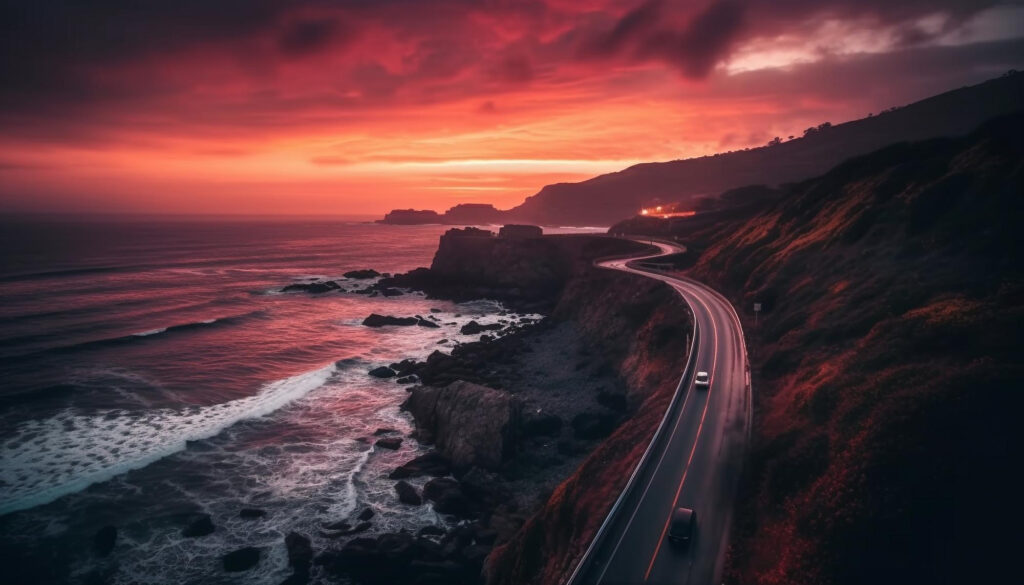
[[[1024,65],[986,0],[0,7],[0,212],[511,207]]]

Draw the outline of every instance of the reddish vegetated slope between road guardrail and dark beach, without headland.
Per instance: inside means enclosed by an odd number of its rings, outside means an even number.
[[[669,286],[610,270],[581,270],[554,311],[596,340],[627,381],[626,420],[487,559],[489,584],[558,583],[571,572],[639,461],[675,391],[692,332]]]

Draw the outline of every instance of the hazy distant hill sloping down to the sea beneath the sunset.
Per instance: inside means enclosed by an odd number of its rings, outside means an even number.
[[[549,184],[509,210],[507,219],[610,225],[653,200],[687,204],[743,185],[795,182],[894,142],[967,134],[1022,105],[1024,75],[1008,74],[771,147],[644,163],[582,182]]]

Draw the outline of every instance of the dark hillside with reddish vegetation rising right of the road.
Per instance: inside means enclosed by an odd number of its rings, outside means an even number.
[[[755,372],[729,583],[1006,580],[1022,197],[1018,114],[851,160],[706,240],[690,274],[746,312]]]

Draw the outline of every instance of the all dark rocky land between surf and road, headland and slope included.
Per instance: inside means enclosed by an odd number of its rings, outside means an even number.
[[[593,265],[645,246],[539,233],[451,229],[430,268],[370,287],[497,299],[545,318],[471,322],[463,332],[478,341],[371,372],[407,386],[401,408],[414,422],[409,436],[379,429],[376,445],[428,449],[390,472],[394,498],[432,506],[449,521],[366,537],[358,533],[373,511],[364,511],[367,518],[335,527],[336,546],[315,551],[326,574],[360,583],[484,583],[498,582],[485,568],[501,565],[515,568],[508,574],[516,579],[535,579],[570,566],[614,501],[685,361],[688,312],[664,285]],[[430,316],[370,316],[365,325],[420,321]],[[549,531],[552,513],[561,521]],[[539,531],[549,542],[537,541]]]

